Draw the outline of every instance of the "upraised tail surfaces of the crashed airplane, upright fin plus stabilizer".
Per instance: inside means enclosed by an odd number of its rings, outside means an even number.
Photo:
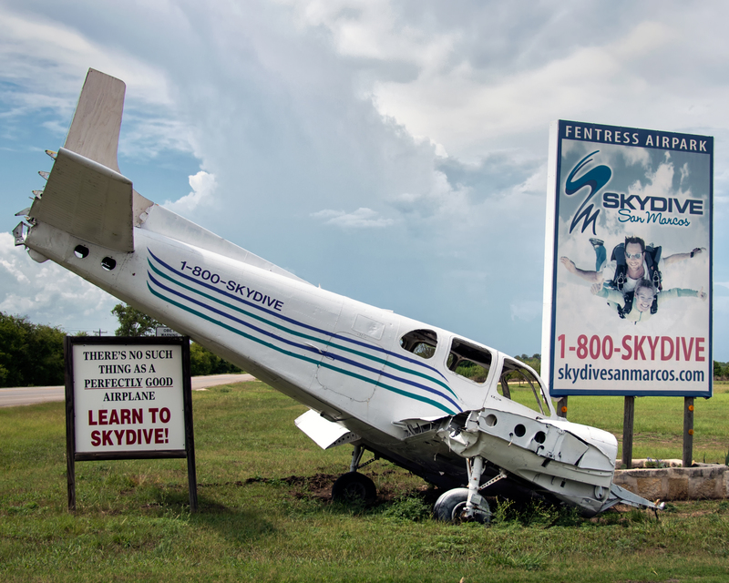
[[[89,69],[46,188],[28,217],[116,251],[134,251],[133,204],[151,201],[119,174],[117,152],[126,86]],[[136,196],[135,196],[136,195]]]

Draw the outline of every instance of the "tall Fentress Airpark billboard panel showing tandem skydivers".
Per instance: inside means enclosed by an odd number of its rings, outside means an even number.
[[[552,123],[552,395],[711,396],[713,157],[706,136]]]

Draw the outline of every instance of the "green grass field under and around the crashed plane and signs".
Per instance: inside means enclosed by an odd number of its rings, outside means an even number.
[[[729,387],[697,401],[695,457],[724,460]],[[349,448],[293,426],[303,407],[261,383],[193,394],[200,512],[184,460],[77,463],[67,512],[62,403],[0,409],[2,581],[726,581],[729,501],[583,520],[498,507],[490,527],[429,517],[437,492],[377,462],[372,507],[333,504]],[[682,399],[636,405],[634,455],[680,457]],[[570,397],[569,417],[621,435],[622,399]]]

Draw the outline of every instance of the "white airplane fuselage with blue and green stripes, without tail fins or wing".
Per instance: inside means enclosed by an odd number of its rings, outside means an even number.
[[[475,382],[450,370],[447,359],[454,338],[477,343],[159,234],[146,226],[187,221],[157,205],[146,214],[134,229],[134,251],[109,250],[44,223],[33,227],[26,246],[343,424],[380,455],[436,483],[463,480],[462,467],[441,476],[432,452],[404,446],[410,435],[398,422],[482,408],[496,393],[506,355],[479,345],[491,362],[488,378]],[[407,332],[418,330],[436,339],[428,358],[402,345]],[[556,418],[549,399],[544,414],[499,401],[518,414]],[[444,459],[455,457],[440,449]]]

